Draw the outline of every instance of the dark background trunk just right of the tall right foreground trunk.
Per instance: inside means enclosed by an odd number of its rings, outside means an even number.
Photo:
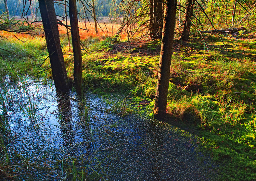
[[[181,32],[181,40],[187,41],[189,38],[189,31],[192,22],[195,0],[186,0],[186,18]]]

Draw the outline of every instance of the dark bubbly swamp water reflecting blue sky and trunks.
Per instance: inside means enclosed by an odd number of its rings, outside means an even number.
[[[120,117],[122,95],[82,99],[31,77],[1,86],[16,180],[215,180],[194,135],[142,113]]]

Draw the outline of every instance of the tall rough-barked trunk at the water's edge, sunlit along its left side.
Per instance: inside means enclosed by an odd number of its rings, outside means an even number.
[[[174,28],[176,24],[177,0],[166,0],[164,5],[163,35],[159,59],[159,73],[154,105],[154,116],[166,116],[167,95],[170,80],[170,66],[173,51]]]

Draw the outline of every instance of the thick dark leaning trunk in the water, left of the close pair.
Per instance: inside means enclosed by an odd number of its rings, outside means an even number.
[[[68,76],[59,41],[59,31],[53,0],[38,0],[45,39],[52,67],[52,76],[56,89],[66,92],[69,89]]]

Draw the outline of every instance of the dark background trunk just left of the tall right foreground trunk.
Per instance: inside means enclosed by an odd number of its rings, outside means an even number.
[[[149,31],[151,39],[162,38],[163,28],[163,2],[162,0],[150,0]]]

